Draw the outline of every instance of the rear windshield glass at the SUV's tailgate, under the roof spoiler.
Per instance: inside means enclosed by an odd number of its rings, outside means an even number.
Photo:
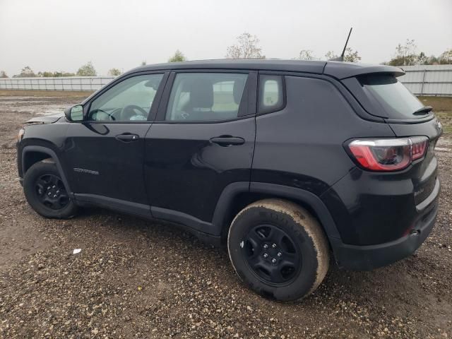
[[[413,114],[424,105],[391,75],[362,76],[359,82],[383,105],[389,119],[420,119],[429,114]]]

